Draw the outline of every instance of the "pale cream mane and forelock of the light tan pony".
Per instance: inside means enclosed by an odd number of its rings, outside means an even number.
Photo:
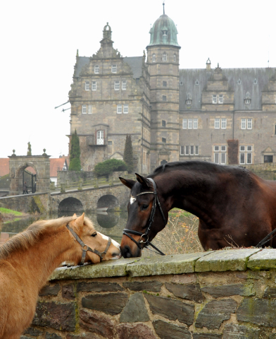
[[[68,222],[77,219],[77,217],[62,217],[52,220],[38,220],[27,230],[15,234],[11,239],[0,246],[0,259],[8,258],[14,251],[24,251],[39,241],[40,237],[51,230],[58,230],[59,227],[67,225]],[[84,218],[84,224],[93,227],[88,218]],[[94,227],[93,227],[94,228]]]

